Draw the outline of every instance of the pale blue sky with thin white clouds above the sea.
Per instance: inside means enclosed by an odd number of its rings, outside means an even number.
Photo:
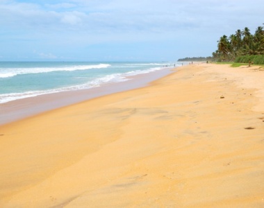
[[[263,24],[263,0],[0,0],[0,61],[176,61]]]

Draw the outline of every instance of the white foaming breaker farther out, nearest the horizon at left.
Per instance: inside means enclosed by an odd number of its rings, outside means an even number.
[[[26,73],[47,73],[52,71],[76,71],[88,69],[102,69],[110,67],[110,64],[95,64],[95,65],[77,65],[71,67],[30,67],[30,68],[13,68],[0,69],[0,78],[8,78]]]

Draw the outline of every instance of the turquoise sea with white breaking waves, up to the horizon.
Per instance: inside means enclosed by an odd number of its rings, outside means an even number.
[[[178,62],[0,62],[0,103],[129,80]]]

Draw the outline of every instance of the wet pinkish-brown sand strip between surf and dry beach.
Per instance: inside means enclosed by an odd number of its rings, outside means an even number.
[[[170,67],[158,71],[152,71],[150,73],[129,76],[129,80],[124,82],[108,83],[90,89],[44,94],[22,98],[8,103],[0,103],[0,126],[21,119],[26,119],[30,116],[35,116],[49,110],[55,110],[67,105],[89,101],[93,98],[145,87],[154,80],[167,76],[173,72],[172,70],[177,68],[178,67]]]

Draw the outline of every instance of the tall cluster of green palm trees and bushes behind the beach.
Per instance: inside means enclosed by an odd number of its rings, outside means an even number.
[[[223,35],[217,41],[217,51],[213,52],[213,59],[218,62],[231,61],[254,64],[264,64],[264,31],[258,26],[254,35],[249,28],[236,31],[227,37]]]

